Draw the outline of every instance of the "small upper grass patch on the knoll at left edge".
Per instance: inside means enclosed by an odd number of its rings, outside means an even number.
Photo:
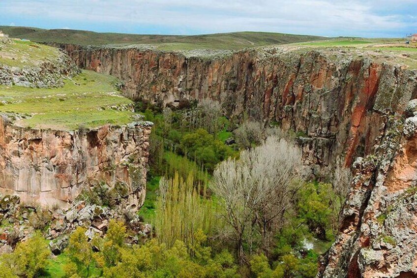
[[[57,48],[30,41],[12,40],[0,43],[0,64],[9,66],[31,66],[60,56]]]

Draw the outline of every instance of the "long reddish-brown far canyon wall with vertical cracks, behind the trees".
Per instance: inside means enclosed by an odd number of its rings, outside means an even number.
[[[131,99],[211,98],[231,118],[277,122],[302,134],[304,158],[318,166],[370,154],[387,115],[401,114],[417,94],[412,71],[349,55],[332,61],[319,51],[267,49],[207,58],[59,46],[78,66],[119,77]]]

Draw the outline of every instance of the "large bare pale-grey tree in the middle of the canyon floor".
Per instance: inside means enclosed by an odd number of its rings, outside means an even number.
[[[214,171],[211,189],[221,201],[240,263],[245,262],[243,244],[254,233],[268,253],[272,233],[281,227],[301,185],[301,170],[300,150],[270,136],[261,146],[243,151],[239,160],[228,159]]]

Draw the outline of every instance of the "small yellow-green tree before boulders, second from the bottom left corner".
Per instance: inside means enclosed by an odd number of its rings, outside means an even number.
[[[86,228],[78,227],[69,238],[66,252],[71,261],[77,265],[78,273],[86,273],[86,277],[89,277],[89,270],[94,262],[94,257],[92,247],[85,235],[86,232]]]

